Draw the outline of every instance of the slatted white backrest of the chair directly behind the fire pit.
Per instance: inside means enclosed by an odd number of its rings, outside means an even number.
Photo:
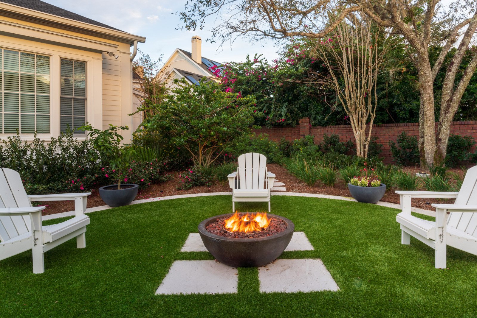
[[[256,152],[248,152],[239,156],[238,189],[265,189],[267,174],[267,157]]]

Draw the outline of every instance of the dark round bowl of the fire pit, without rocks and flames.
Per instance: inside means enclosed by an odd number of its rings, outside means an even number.
[[[208,224],[233,213],[208,218],[199,224],[199,234],[207,250],[222,264],[233,267],[256,267],[277,259],[290,243],[295,225],[289,219],[267,214],[269,218],[281,219],[287,229],[272,236],[254,239],[225,238],[207,231]]]

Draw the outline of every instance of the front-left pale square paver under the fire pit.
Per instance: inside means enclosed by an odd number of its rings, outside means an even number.
[[[213,260],[176,260],[156,295],[237,293],[237,268]]]

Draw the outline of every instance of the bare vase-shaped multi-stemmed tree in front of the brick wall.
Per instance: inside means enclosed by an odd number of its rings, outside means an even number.
[[[317,83],[335,91],[353,129],[356,155],[367,158],[378,105],[378,74],[392,40],[373,20],[350,13],[327,37],[311,43],[327,69],[315,73]]]

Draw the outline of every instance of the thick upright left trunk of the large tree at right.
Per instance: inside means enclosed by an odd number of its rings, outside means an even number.
[[[418,60],[419,92],[421,107],[419,109],[419,154],[421,167],[434,165],[436,153],[436,124],[434,115],[434,80],[431,65],[425,54]]]

